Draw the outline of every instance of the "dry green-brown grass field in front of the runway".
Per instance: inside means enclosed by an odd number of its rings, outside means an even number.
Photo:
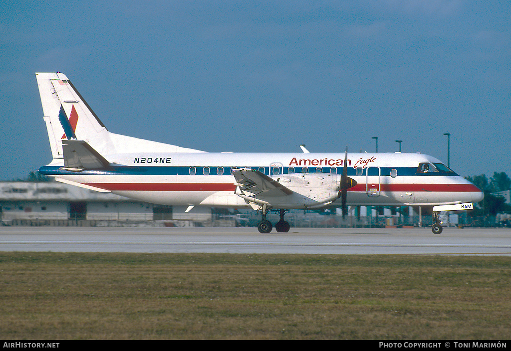
[[[0,252],[2,339],[511,338],[504,256]]]

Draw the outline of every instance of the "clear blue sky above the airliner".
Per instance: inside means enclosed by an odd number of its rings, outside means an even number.
[[[511,175],[509,2],[0,1],[1,180],[51,154],[35,72],[204,151],[399,150]]]

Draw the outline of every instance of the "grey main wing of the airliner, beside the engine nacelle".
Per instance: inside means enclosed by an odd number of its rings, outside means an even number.
[[[236,178],[240,190],[250,196],[283,196],[291,195],[293,191],[267,175],[252,169],[235,169],[233,175]]]

